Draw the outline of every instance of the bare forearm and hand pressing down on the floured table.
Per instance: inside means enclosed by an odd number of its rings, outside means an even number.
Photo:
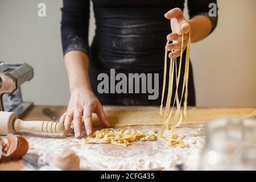
[[[65,133],[69,133],[71,123],[74,121],[75,136],[81,138],[82,119],[84,119],[86,134],[91,135],[92,113],[98,115],[103,126],[109,127],[102,105],[90,86],[88,56],[81,51],[69,51],[65,53],[64,61],[71,92],[67,111],[60,118],[60,122],[65,126]]]

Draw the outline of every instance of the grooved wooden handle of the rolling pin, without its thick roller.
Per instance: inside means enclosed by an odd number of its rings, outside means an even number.
[[[14,122],[14,129],[35,131],[40,133],[63,133],[64,125],[52,121],[23,121],[16,119]]]

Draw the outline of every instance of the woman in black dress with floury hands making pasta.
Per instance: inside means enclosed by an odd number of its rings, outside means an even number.
[[[96,35],[89,47],[90,3],[93,3],[96,18]],[[191,42],[207,37],[217,24],[217,15],[209,16],[210,3],[216,5],[217,2],[188,0],[190,19],[187,20],[182,11],[184,0],[64,0],[61,9],[61,39],[71,92],[68,109],[60,119],[65,130],[69,131],[74,120],[76,138],[81,138],[84,118],[86,134],[92,134],[92,113],[96,113],[102,125],[108,127],[101,104],[160,105],[164,48],[173,51],[169,57],[179,59],[181,30],[184,32],[185,49],[189,26]],[[179,28],[184,21],[189,26],[185,23]],[[167,40],[171,41],[168,46]],[[184,75],[184,65],[181,67],[181,75]],[[188,105],[193,106],[195,89],[191,65],[189,67]],[[158,97],[149,100],[148,93],[99,93],[97,86],[101,80],[97,77],[100,73],[110,77],[110,69],[115,69],[115,74],[123,73],[127,76],[129,73],[157,73]]]

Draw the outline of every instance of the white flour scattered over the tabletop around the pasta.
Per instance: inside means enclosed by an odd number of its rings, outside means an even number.
[[[153,133],[152,129],[160,130],[162,126],[116,127],[117,129],[138,129],[143,133]],[[30,143],[28,153],[46,154],[49,164],[52,157],[60,155],[64,148],[72,148],[80,157],[82,170],[174,170],[176,164],[184,164],[186,170],[198,169],[198,159],[205,143],[203,125],[178,127],[176,134],[185,136],[184,148],[168,147],[166,142],[157,135],[156,141],[143,142],[138,140],[131,146],[122,147],[113,144],[84,144],[75,137],[41,138],[26,135]],[[168,135],[167,131],[164,135]]]

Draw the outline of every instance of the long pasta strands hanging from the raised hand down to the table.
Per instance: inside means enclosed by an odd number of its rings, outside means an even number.
[[[183,23],[180,24],[180,27]],[[164,92],[166,89],[166,73],[167,73],[167,54],[168,51],[165,52],[164,55],[164,78],[163,78],[163,92],[162,92],[162,101],[160,105],[160,115],[163,115],[164,123],[163,128],[160,131],[160,138],[166,140],[168,146],[177,146],[177,147],[183,147],[184,143],[182,141],[182,138],[177,137],[175,134],[175,128],[177,126],[180,126],[180,124],[183,121],[183,114],[186,120],[187,116],[187,98],[188,98],[188,73],[189,73],[189,55],[191,51],[191,38],[190,38],[190,27],[189,27],[189,39],[187,44],[187,53],[185,57],[185,71],[183,76],[183,84],[182,84],[182,93],[181,97],[179,98],[178,95],[178,86],[180,82],[181,77],[181,64],[183,59],[183,52],[180,53],[180,63],[179,68],[177,68],[177,59],[171,58],[170,60],[170,71],[169,71],[169,83],[168,83],[168,94],[167,94],[167,101],[166,101],[166,108],[164,110],[163,114],[163,100],[164,100]],[[169,41],[167,41],[167,44],[169,44]],[[184,44],[184,33],[182,32],[182,38],[181,38],[181,49],[183,50],[183,44]],[[175,74],[174,74],[175,73]],[[174,97],[174,103],[171,105],[172,100],[172,88],[174,86],[174,79],[176,80],[176,91],[175,91],[175,97]],[[185,92],[185,93],[184,93]],[[181,100],[184,95],[184,110],[183,113],[181,111]],[[176,104],[176,111],[174,111],[174,106]],[[172,118],[172,121],[171,121]],[[169,129],[169,122],[171,121],[171,129]],[[169,136],[163,137],[164,130],[169,130]]]

